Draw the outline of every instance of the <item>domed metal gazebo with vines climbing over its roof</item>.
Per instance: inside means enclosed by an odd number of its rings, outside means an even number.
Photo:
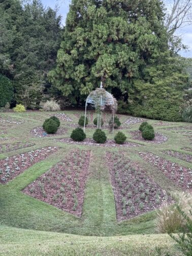
[[[100,88],[95,89],[94,91],[91,91],[86,99],[85,104],[85,121],[84,121],[84,132],[85,132],[85,122],[86,122],[86,112],[87,112],[87,104],[94,105],[94,108],[98,112],[98,123],[97,123],[97,129],[101,129],[101,120],[102,120],[102,110],[105,109],[105,107],[110,107],[112,110],[112,125],[114,126],[114,114],[115,110],[117,108],[117,101],[113,97],[111,93],[106,91],[103,88],[103,84],[101,82]],[[112,127],[113,127],[112,126]],[[112,128],[114,132],[114,127]]]

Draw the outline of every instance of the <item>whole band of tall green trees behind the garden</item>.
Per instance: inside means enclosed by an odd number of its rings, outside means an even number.
[[[1,0],[0,107],[82,107],[102,80],[119,113],[180,121],[192,61],[165,12],[158,0],[72,0],[63,27],[39,0]]]

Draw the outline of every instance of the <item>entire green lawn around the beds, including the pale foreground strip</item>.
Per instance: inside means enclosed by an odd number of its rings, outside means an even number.
[[[168,194],[173,190],[181,190],[166,178],[163,173],[158,172],[157,168],[143,161],[137,152],[149,151],[182,166],[191,167],[191,164],[169,155],[164,155],[162,152],[163,150],[172,149],[191,154],[191,152],[182,150],[183,147],[190,147],[189,136],[165,130],[166,127],[189,124],[167,122],[167,126],[154,126],[156,132],[161,132],[168,137],[166,142],[159,145],[131,139],[130,131],[138,130],[140,123],[132,124],[130,125],[131,129],[124,129],[122,132],[126,134],[127,141],[142,144],[141,147],[136,148],[67,145],[53,140],[55,138],[70,137],[73,128],[69,126],[69,123],[78,122],[78,117],[75,115],[77,113],[81,114],[83,112],[65,111],[65,114],[73,121],[61,121],[61,127],[66,127],[67,132],[54,138],[37,138],[30,134],[31,129],[43,124],[45,118],[49,117],[49,112],[0,114],[4,119],[11,117],[24,121],[24,123],[18,125],[6,124],[8,140],[2,140],[0,144],[24,141],[35,143],[32,147],[2,153],[0,154],[0,159],[45,146],[59,147],[59,150],[54,155],[50,155],[44,161],[31,166],[7,184],[0,184],[0,223],[3,235],[2,238],[0,237],[0,239],[3,239],[3,242],[0,242],[2,244],[0,254],[3,252],[3,255],[153,255],[155,246],[159,246],[164,247],[165,250],[171,250],[173,255],[180,255],[178,251],[177,254],[174,254],[173,242],[167,235],[157,234],[155,211],[147,212],[122,222],[116,220],[115,201],[105,153],[106,151],[123,151],[125,157],[139,163],[147,174]],[[129,118],[129,116],[125,115],[119,115],[119,117],[121,122]],[[158,120],[149,120],[150,124],[157,122]],[[113,139],[114,135],[109,134],[107,130],[105,131],[107,138]],[[88,138],[92,138],[93,129],[86,129],[85,132]],[[115,131],[115,133],[117,132]],[[65,158],[74,148],[91,151],[89,176],[86,181],[81,218],[29,197],[21,191],[57,162]],[[30,231],[27,229],[30,229]],[[28,244],[29,240],[30,244]],[[64,248],[66,254],[62,253]],[[27,254],[28,251],[30,251],[30,254]]]

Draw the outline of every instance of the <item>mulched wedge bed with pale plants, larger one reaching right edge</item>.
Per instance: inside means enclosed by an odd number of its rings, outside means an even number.
[[[139,155],[151,165],[161,170],[167,178],[183,189],[192,191],[192,170],[149,152],[139,152]]]

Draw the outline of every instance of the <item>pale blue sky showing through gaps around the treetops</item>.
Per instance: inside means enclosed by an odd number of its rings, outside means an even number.
[[[45,7],[55,7],[55,4],[59,4],[59,14],[62,16],[62,24],[65,25],[65,20],[69,12],[70,0],[42,0]],[[188,46],[188,51],[181,51],[180,55],[183,57],[192,57],[192,25],[181,28],[178,31],[178,35],[182,35],[182,42]]]

